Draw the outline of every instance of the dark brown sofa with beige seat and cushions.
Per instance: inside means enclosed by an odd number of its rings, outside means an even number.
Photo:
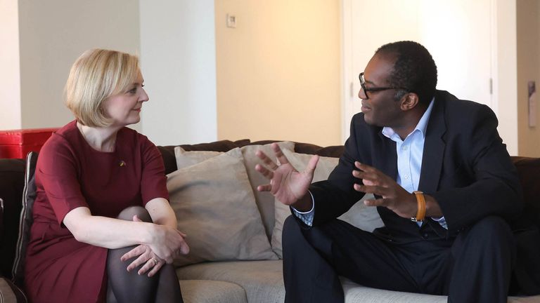
[[[281,227],[290,211],[256,190],[264,177],[255,171],[255,151],[269,153],[272,142],[280,144],[299,170],[312,154],[321,156],[314,181],[326,179],[343,152],[342,146],[250,140],[158,147],[169,201],[191,246],[190,254],[175,260],[184,302],[283,302]],[[512,159],[525,192],[527,220],[540,225],[540,158]],[[0,159],[0,302],[25,302],[20,268],[28,224],[24,219],[31,209],[30,162]],[[363,203],[356,203],[341,219],[369,231],[383,224],[376,209]],[[342,285],[348,303],[447,301],[445,296],[368,288],[346,278]],[[540,295],[509,297],[508,302],[540,302]]]

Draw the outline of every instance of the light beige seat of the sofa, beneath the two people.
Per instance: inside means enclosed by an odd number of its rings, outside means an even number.
[[[283,302],[285,299],[285,288],[283,286],[283,263],[281,260],[264,261],[239,261],[239,262],[206,262],[201,264],[180,267],[176,273],[181,281],[182,294],[184,298],[190,298],[192,290],[205,290],[206,280],[225,281],[234,283],[245,290],[245,295],[249,303],[263,302]],[[191,288],[184,287],[184,279],[200,282],[200,287],[196,285]],[[423,295],[411,292],[395,292],[390,290],[379,290],[358,285],[346,278],[342,279],[345,290],[346,303],[446,303],[446,296]],[[201,294],[199,294],[201,295]],[[186,301],[190,302],[190,301]],[[194,302],[194,301],[193,301]],[[196,301],[208,302],[208,301]],[[212,302],[245,302],[238,301],[212,301]],[[540,295],[534,297],[508,297],[508,303],[539,303]]]

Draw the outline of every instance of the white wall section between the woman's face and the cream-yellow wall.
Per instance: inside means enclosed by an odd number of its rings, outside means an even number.
[[[213,0],[141,0],[141,64],[155,144],[217,140]]]

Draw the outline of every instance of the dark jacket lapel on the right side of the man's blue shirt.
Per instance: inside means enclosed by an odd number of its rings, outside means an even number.
[[[444,120],[446,98],[442,97],[442,92],[439,90],[437,90],[434,102],[425,134],[422,168],[418,183],[418,190],[426,192],[437,191],[437,185],[441,177],[444,148],[446,147],[446,143],[442,139],[442,135],[446,133],[446,121]]]

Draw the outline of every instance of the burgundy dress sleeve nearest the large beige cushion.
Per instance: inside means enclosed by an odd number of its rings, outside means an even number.
[[[158,147],[144,137],[142,144],[143,171],[141,177],[141,197],[143,205],[153,198],[165,198],[169,200],[167,191],[167,176],[165,165]]]

